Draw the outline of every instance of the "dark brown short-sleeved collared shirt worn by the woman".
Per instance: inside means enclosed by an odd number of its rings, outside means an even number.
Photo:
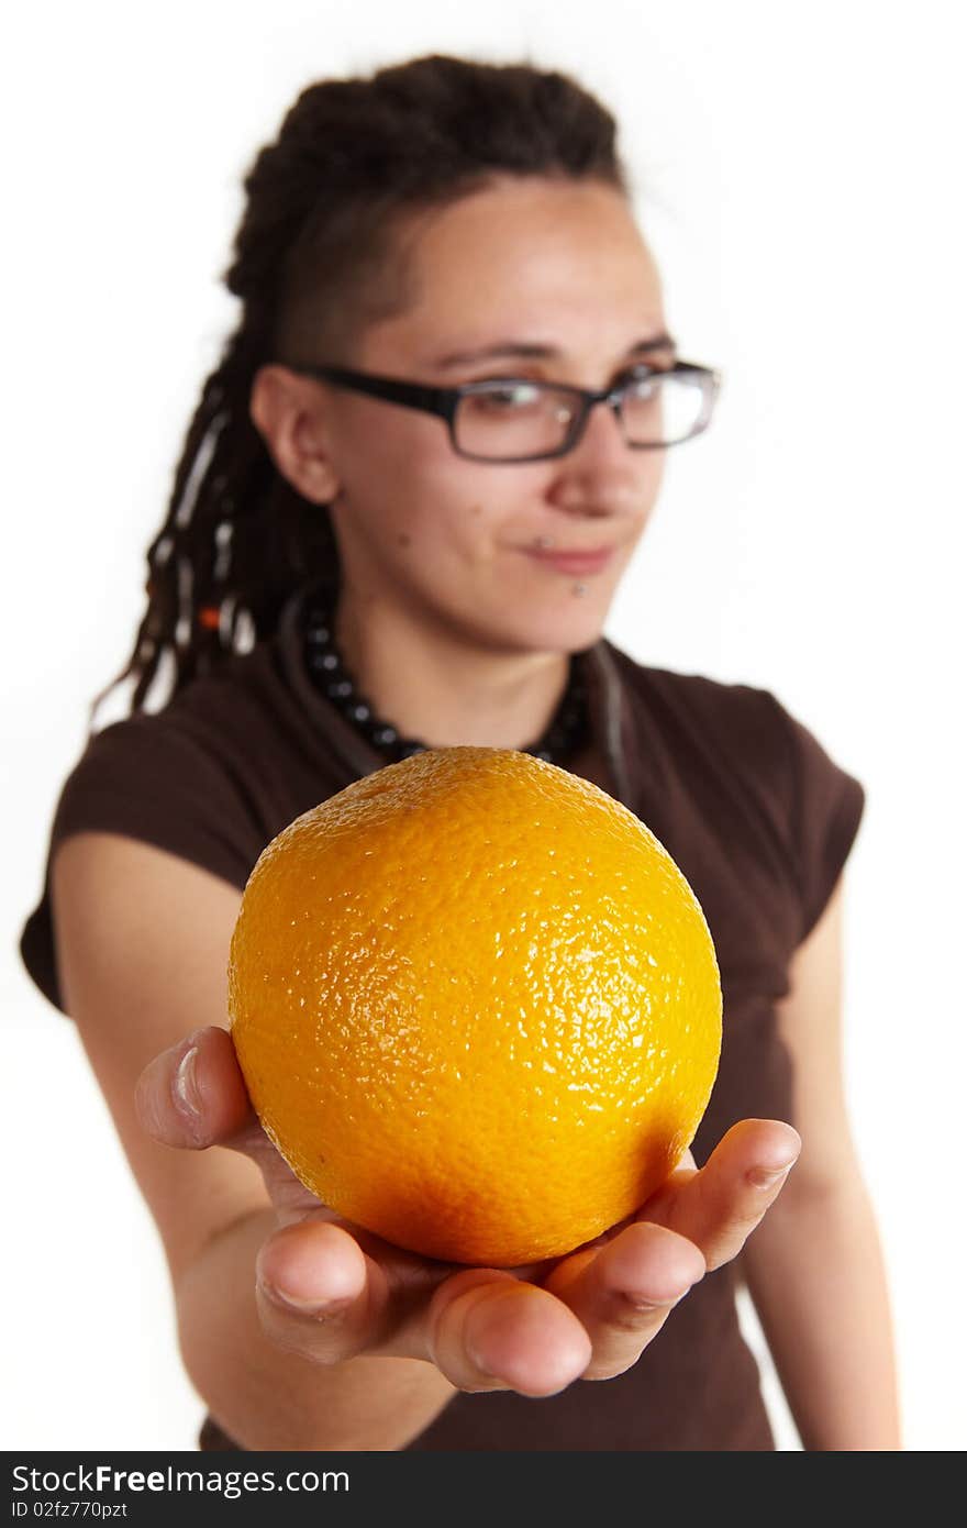
[[[72,833],[154,843],[241,889],[293,817],[382,766],[304,671],[306,591],[275,637],[112,723],[67,776],[23,961],[63,1008],[49,871]],[[701,1163],[739,1118],[791,1120],[775,1004],[854,842],[863,787],[768,692],[646,668],[606,639],[581,659],[593,736],[571,769],[625,802],[671,853],[718,955],[724,1038],[694,1143]],[[208,1418],[203,1449],[234,1447]],[[758,1450],[773,1439],[735,1308],[735,1270],[703,1279],[634,1368],[562,1394],[458,1394],[416,1450]]]

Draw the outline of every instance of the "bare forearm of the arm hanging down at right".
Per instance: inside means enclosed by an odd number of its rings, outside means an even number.
[[[804,1447],[898,1449],[886,1276],[859,1177],[822,1192],[790,1181],[742,1271]]]

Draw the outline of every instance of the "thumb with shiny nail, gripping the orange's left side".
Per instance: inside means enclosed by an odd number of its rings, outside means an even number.
[[[243,1146],[260,1126],[228,1030],[196,1030],[156,1056],[134,1085],[142,1128],[165,1146]]]

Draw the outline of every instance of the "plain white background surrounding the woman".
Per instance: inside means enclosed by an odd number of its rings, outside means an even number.
[[[669,460],[608,634],[642,662],[771,689],[866,785],[849,1097],[907,1447],[967,1441],[958,15],[943,0],[18,9],[0,90],[5,1447],[194,1447],[203,1407],[153,1222],[17,940],[234,324],[218,278],[241,174],[302,86],[422,52],[530,53],[600,93],[681,350],[726,373],[713,431]],[[768,1368],[765,1383],[794,1449]]]

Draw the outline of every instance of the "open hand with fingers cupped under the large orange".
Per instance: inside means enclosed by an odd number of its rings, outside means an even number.
[[[461,1390],[521,1395],[631,1368],[687,1290],[741,1250],[800,1148],[790,1125],[742,1120],[701,1170],[686,1152],[646,1204],[577,1251],[467,1268],[394,1247],[321,1204],[258,1123],[226,1030],[197,1030],[150,1062],[136,1105],[154,1140],[226,1146],[261,1169],[280,1221],[255,1267],[270,1340],[324,1365],[423,1358]]]

